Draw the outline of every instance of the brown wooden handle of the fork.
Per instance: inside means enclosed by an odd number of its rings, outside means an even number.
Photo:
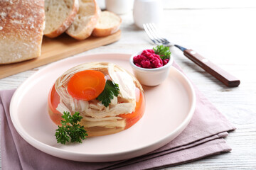
[[[234,77],[233,75],[225,72],[225,70],[221,69],[217,65],[210,62],[208,59],[204,58],[203,56],[199,55],[194,50],[184,50],[183,54],[188,57],[192,62],[195,62],[200,66],[202,69],[206,70],[209,74],[213,77],[221,81],[228,87],[239,86],[240,80]]]

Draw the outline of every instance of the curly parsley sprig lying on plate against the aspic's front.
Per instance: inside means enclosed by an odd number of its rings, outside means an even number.
[[[65,142],[80,142],[85,140],[87,133],[84,126],[78,123],[82,120],[79,112],[70,115],[69,112],[64,112],[61,120],[61,125],[55,132],[55,137],[58,143],[64,144]]]

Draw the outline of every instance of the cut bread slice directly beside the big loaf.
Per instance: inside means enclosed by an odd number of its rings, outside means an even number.
[[[45,0],[46,28],[44,35],[55,38],[65,32],[78,13],[78,0]]]

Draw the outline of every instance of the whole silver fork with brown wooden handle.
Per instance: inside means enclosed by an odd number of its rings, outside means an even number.
[[[234,77],[233,75],[229,74],[228,72],[225,72],[225,70],[221,69],[217,65],[213,64],[213,62],[210,62],[205,57],[199,55],[194,50],[188,50],[185,47],[181,47],[180,45],[176,45],[166,38],[163,38],[159,34],[159,30],[157,30],[156,25],[154,23],[145,23],[143,24],[144,30],[146,31],[146,34],[149,36],[150,40],[154,42],[156,45],[165,45],[165,46],[175,46],[178,47],[181,51],[183,51],[183,55],[188,57],[192,62],[196,63],[199,67],[206,70],[209,74],[211,74],[213,77],[221,81],[223,84],[229,87],[239,86],[240,80]]]

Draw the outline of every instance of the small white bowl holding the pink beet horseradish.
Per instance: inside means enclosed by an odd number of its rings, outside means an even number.
[[[163,82],[169,75],[171,64],[174,62],[173,57],[170,56],[169,62],[163,67],[144,69],[142,67],[137,67],[137,65],[134,64],[134,57],[140,54],[142,54],[142,51],[133,54],[129,60],[134,72],[134,76],[139,80],[141,84],[146,86],[157,86],[161,84],[161,82]]]

